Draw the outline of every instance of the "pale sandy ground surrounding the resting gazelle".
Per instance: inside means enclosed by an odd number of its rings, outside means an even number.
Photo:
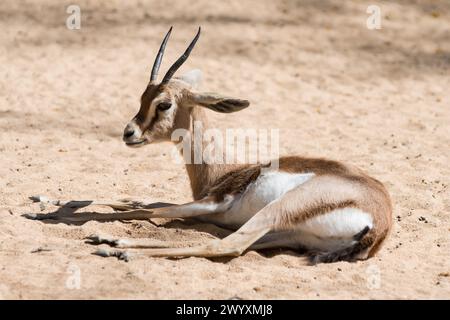
[[[367,1],[172,2],[76,1],[82,27],[71,31],[64,1],[1,1],[0,297],[450,298],[448,1],[379,2],[381,30],[366,28]],[[199,67],[205,90],[252,103],[211,112],[217,126],[279,128],[282,154],[347,161],[387,185],[394,229],[375,258],[307,266],[278,250],[126,263],[92,255],[83,238],[191,244],[227,232],[181,220],[67,225],[22,216],[55,211],[41,211],[28,199],[35,194],[191,199],[169,144],[121,142],[172,24],[163,69],[201,25],[183,70]]]

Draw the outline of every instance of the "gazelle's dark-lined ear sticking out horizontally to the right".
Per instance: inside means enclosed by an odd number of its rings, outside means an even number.
[[[190,100],[191,104],[221,113],[240,111],[250,105],[248,100],[224,97],[217,93],[191,93]]]

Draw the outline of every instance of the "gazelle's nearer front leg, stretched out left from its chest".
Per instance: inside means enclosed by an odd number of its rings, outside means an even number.
[[[181,205],[168,206],[154,209],[137,209],[113,213],[86,212],[70,216],[57,214],[42,214],[33,217],[37,220],[55,219],[67,222],[86,222],[90,220],[146,220],[150,218],[189,218],[200,215],[224,212],[228,210],[234,201],[234,196],[225,197],[222,202],[216,202],[211,197]]]

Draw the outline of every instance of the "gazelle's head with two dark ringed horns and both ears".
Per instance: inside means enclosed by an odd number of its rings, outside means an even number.
[[[159,48],[150,75],[150,82],[141,96],[141,106],[136,116],[127,124],[123,141],[130,147],[140,147],[152,142],[170,141],[174,130],[185,127],[195,106],[230,113],[248,107],[247,100],[227,98],[215,93],[194,91],[201,80],[200,70],[181,77],[173,77],[187,60],[200,37],[200,28],[183,55],[169,68],[161,82],[157,75],[172,27]]]

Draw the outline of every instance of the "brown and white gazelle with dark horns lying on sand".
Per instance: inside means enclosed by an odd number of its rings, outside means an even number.
[[[142,147],[170,141],[176,129],[192,131],[194,121],[207,126],[205,109],[230,113],[249,106],[247,100],[201,93],[196,90],[199,71],[174,77],[200,36],[200,28],[184,54],[161,82],[157,74],[172,28],[162,41],[150,82],[137,115],[127,124],[123,141]],[[126,210],[112,214],[71,217],[85,219],[196,218],[236,230],[221,240],[194,247],[132,239],[91,236],[93,244],[126,249],[146,249],[158,257],[238,256],[247,249],[302,248],[311,260],[354,261],[373,256],[391,228],[392,206],[382,183],[358,168],[337,161],[282,157],[277,170],[263,165],[186,164],[194,201],[156,209],[136,209],[127,204],[106,204]],[[126,259],[127,252],[100,250],[102,256]]]

